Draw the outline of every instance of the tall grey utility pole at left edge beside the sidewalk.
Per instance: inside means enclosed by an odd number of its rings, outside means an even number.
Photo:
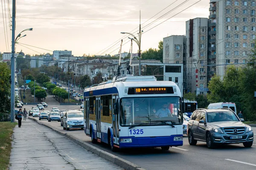
[[[15,14],[16,0],[12,0],[11,122],[15,122]]]

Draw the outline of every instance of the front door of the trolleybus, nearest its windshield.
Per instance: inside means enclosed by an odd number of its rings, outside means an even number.
[[[113,142],[119,144],[119,115],[114,114],[113,104],[117,101],[118,96],[112,96],[112,125],[113,125]]]

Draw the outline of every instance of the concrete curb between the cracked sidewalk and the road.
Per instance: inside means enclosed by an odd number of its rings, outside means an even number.
[[[36,120],[36,119],[33,119],[31,117],[28,117],[28,119],[34,120],[39,125],[44,125],[46,127],[49,127],[50,129],[52,129],[53,131],[57,132],[58,134],[60,134],[62,136],[66,136],[71,141],[75,142],[76,144],[79,144],[81,147],[84,147],[84,149],[86,149],[86,150],[88,150],[88,151],[90,151],[92,153],[95,153],[96,155],[98,155],[98,156],[100,156],[100,157],[110,161],[113,164],[118,165],[119,167],[124,168],[125,170],[145,170],[144,168],[141,168],[137,164],[134,164],[134,163],[132,163],[130,161],[127,161],[127,160],[122,159],[122,158],[120,158],[118,156],[115,156],[115,155],[113,155],[111,153],[108,153],[108,152],[106,152],[104,150],[101,150],[98,147],[95,147],[95,146],[93,146],[91,144],[88,144],[87,142],[83,142],[83,141],[77,139],[74,136],[68,135],[67,133],[62,133],[59,130],[56,130],[56,129],[48,126],[48,125],[45,125],[43,123],[38,122],[38,120]]]

